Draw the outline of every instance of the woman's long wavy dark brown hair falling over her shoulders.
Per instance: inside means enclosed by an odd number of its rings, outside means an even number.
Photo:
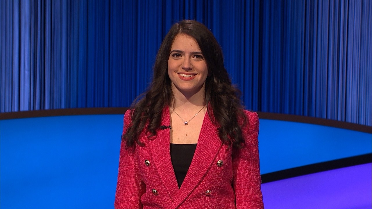
[[[164,107],[173,101],[168,59],[171,45],[178,34],[193,37],[207,62],[205,102],[209,106],[209,117],[218,127],[219,138],[224,144],[241,148],[244,145],[241,126],[247,119],[241,105],[240,91],[231,84],[224,67],[222,49],[216,38],[205,25],[195,20],[182,20],[174,24],[161,43],[155,60],[153,80],[147,91],[131,106],[132,123],[122,135],[126,148],[143,145],[139,139],[142,131],[150,133],[148,136],[155,136],[160,128]]]

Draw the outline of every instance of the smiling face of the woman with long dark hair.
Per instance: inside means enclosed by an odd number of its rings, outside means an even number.
[[[174,38],[168,59],[172,90],[184,95],[204,92],[208,75],[207,63],[194,38],[179,34]]]

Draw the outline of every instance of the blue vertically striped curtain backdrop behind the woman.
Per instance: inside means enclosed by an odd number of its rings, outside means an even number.
[[[129,106],[196,19],[247,109],[372,125],[370,0],[2,0],[0,18],[0,112]]]

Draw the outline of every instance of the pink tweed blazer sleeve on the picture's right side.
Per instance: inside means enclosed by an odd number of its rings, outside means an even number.
[[[236,208],[263,209],[260,159],[258,152],[259,118],[246,111],[248,124],[242,127],[245,146],[232,155]]]

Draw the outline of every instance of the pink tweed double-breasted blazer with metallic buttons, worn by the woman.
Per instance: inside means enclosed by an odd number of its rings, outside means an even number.
[[[145,146],[134,152],[121,144],[115,209],[262,209],[258,152],[259,119],[245,110],[249,125],[243,127],[246,146],[231,151],[222,144],[217,127],[205,114],[198,144],[181,188],[170,159],[169,129],[159,130]],[[124,115],[124,131],[131,123]],[[161,125],[168,126],[169,109],[164,108]],[[219,163],[218,163],[219,161]],[[221,165],[222,161],[222,165]]]

